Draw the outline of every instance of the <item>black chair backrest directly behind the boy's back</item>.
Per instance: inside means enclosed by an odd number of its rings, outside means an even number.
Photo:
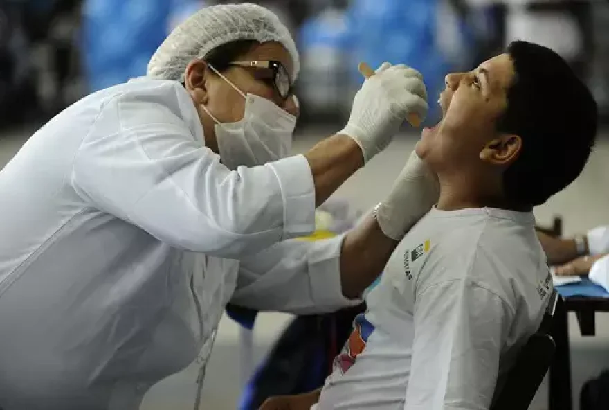
[[[549,335],[556,309],[564,309],[563,298],[554,290],[539,330],[522,347],[491,410],[527,410],[547,373],[556,344]]]

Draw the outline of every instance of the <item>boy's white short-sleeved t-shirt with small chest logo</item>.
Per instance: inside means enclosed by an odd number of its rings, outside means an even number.
[[[532,213],[434,209],[367,294],[313,409],[489,409],[551,293]]]

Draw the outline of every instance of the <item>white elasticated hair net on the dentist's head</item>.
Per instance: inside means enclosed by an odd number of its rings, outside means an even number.
[[[282,44],[292,57],[292,80],[296,80],[300,61],[289,30],[271,10],[251,3],[210,6],[196,12],[158,47],[148,63],[147,76],[183,81],[188,63],[237,40]]]

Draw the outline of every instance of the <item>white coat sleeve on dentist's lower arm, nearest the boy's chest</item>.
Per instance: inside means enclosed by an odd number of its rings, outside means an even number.
[[[295,314],[332,312],[361,303],[343,296],[343,236],[309,242],[288,240],[242,258],[231,303],[255,310]]]

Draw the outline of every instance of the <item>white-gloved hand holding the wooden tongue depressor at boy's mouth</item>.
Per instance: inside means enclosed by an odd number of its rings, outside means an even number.
[[[354,139],[367,162],[387,148],[408,114],[416,113],[423,121],[428,108],[421,73],[385,62],[364,81],[353,100],[347,126],[338,134]]]

